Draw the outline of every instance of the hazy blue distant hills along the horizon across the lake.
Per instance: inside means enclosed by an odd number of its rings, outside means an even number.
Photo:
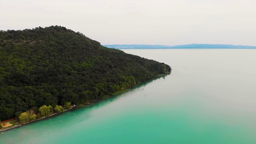
[[[231,44],[186,44],[177,46],[146,44],[112,44],[103,46],[116,49],[256,49],[256,46],[239,46]]]

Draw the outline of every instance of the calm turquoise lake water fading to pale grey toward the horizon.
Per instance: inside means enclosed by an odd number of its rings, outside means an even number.
[[[5,131],[0,144],[256,143],[256,50],[124,51],[172,74]]]

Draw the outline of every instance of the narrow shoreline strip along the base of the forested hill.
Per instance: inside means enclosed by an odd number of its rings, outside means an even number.
[[[170,75],[170,74],[171,74],[171,72],[168,73],[168,74],[158,74],[156,77],[151,78],[150,80],[156,80],[156,79],[158,79],[158,78],[161,78],[161,77],[163,77],[163,76],[167,76],[167,75]],[[106,97],[103,97],[103,98],[99,98],[99,99],[97,99],[97,100],[91,100],[91,101],[90,101],[89,103],[87,103],[87,104],[82,104],[82,105],[79,105],[79,106],[76,106],[76,107],[82,107],[82,106],[86,106],[86,105],[91,105],[92,103],[99,103],[99,102],[102,102],[102,101],[101,101],[102,99],[112,98],[112,97],[117,96],[117,95],[119,95],[119,94],[123,94],[124,92],[129,91],[131,88],[134,88],[134,87],[138,86],[139,84],[143,84],[144,82],[148,82],[148,81],[150,81],[150,80],[145,80],[145,81],[143,81],[143,82],[138,82],[137,84],[134,84],[133,86],[130,86],[129,88],[126,88],[125,90],[117,91],[117,92],[115,92],[114,94],[112,94],[112,95],[110,95],[110,96],[106,96]],[[74,107],[75,107],[75,106],[72,105],[71,108],[70,108],[70,109],[67,109],[67,110],[71,110],[71,109],[74,108]],[[65,112],[65,111],[67,111],[67,110],[64,110],[63,112]],[[62,112],[62,113],[63,113],[63,112]],[[60,113],[51,114],[50,116],[54,116],[54,115],[56,115],[56,114],[60,114]],[[38,121],[38,120],[42,120],[42,119],[48,118],[48,117],[50,117],[50,116],[44,116],[44,117],[42,117],[42,118],[33,120],[33,121],[31,121],[31,122],[36,122],[36,121]],[[22,126],[22,125],[25,125],[25,124],[29,124],[29,123],[31,123],[31,122],[26,122],[26,123],[24,123],[24,124],[14,125],[14,126],[12,126],[12,127],[5,128],[5,129],[0,130],[0,132],[6,131],[6,130],[11,130],[11,129],[13,129],[13,128],[17,128],[17,127],[19,127],[19,126]]]

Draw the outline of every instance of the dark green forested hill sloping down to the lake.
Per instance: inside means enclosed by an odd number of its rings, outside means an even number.
[[[170,71],[61,26],[0,31],[0,119],[42,105],[84,104]]]

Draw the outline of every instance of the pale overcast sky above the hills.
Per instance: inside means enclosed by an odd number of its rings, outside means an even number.
[[[256,0],[0,0],[0,30],[52,25],[101,44],[256,46]]]

